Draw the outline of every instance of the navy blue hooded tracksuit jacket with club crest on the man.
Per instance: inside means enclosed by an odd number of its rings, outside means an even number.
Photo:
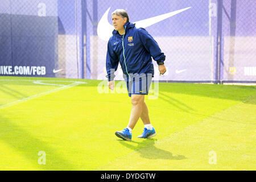
[[[109,81],[114,80],[114,71],[117,71],[118,63],[121,64],[123,73],[129,78],[130,73],[151,73],[154,77],[154,66],[151,57],[155,61],[164,61],[166,56],[161,51],[158,43],[144,28],[136,28],[135,24],[127,22],[124,26],[125,34],[120,35],[113,31],[108,42],[106,55],[106,71]]]

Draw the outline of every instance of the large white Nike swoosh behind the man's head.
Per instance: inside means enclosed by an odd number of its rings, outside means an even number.
[[[158,16],[154,16],[152,18],[147,18],[147,19],[143,19],[143,20],[139,20],[138,22],[134,22],[136,27],[142,27],[142,28],[146,28],[151,26],[152,24],[158,23],[164,19],[170,18],[171,16],[174,16],[176,14],[181,13],[182,11],[188,10],[191,7],[186,7],[184,9],[181,10],[176,10],[176,11],[172,11],[170,13],[166,13],[166,14],[162,14],[162,15],[158,15]],[[97,34],[98,37],[102,40],[108,41],[110,36],[112,36],[112,32],[114,30],[114,27],[112,24],[109,23],[108,20],[108,14],[109,14],[109,10],[106,10],[106,12],[104,13],[104,15],[101,17],[100,22],[98,22],[98,28],[97,28]]]

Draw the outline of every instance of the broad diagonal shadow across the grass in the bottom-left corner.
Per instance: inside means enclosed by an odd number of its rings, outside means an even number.
[[[28,121],[29,122],[29,121]],[[33,136],[31,133],[0,116],[0,141],[6,143],[8,146],[17,151],[22,158],[27,159],[27,164],[16,167],[17,161],[9,161],[13,163],[11,169],[16,170],[34,170],[39,168],[42,170],[76,170],[76,167],[56,152],[56,149],[50,146],[50,143],[40,140],[38,137]],[[46,164],[38,164],[39,151],[46,152]],[[5,154],[14,155],[14,154]],[[10,165],[10,164],[9,164]],[[27,167],[31,166],[31,168]],[[8,168],[9,169],[9,168]]]

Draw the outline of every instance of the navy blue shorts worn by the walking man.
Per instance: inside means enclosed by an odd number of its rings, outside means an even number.
[[[130,77],[130,81],[126,81],[129,97],[131,97],[131,94],[147,95],[148,90],[150,89],[151,81],[151,74]]]

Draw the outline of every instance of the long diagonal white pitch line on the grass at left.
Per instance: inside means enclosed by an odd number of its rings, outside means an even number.
[[[11,80],[6,80],[6,81],[11,81]],[[13,81],[16,81],[16,80],[13,80]],[[20,81],[20,80],[19,80],[19,81]],[[27,81],[27,80],[24,80],[24,81]],[[30,80],[30,81],[35,81],[35,80]],[[46,80],[42,80],[42,81],[46,81]],[[71,82],[71,81],[68,81],[68,82]],[[39,94],[35,94],[34,96],[22,98],[21,100],[14,101],[14,102],[10,102],[10,103],[5,104],[5,105],[1,105],[1,106],[0,106],[0,109],[6,108],[6,107],[10,107],[10,106],[13,106],[13,105],[16,105],[16,104],[20,104],[20,103],[22,103],[22,102],[26,102],[26,101],[32,100],[32,99],[34,99],[34,98],[38,98],[38,97],[41,97],[41,96],[45,96],[45,95],[50,94],[50,93],[59,92],[60,90],[65,90],[65,89],[71,88],[71,87],[76,86],[76,85],[87,84],[86,82],[81,82],[81,81],[75,81],[75,82],[72,81],[72,82],[73,82],[72,84],[65,85],[65,86],[61,86],[60,88],[48,90],[48,91],[46,91],[46,92],[42,92],[42,93],[39,93]]]

